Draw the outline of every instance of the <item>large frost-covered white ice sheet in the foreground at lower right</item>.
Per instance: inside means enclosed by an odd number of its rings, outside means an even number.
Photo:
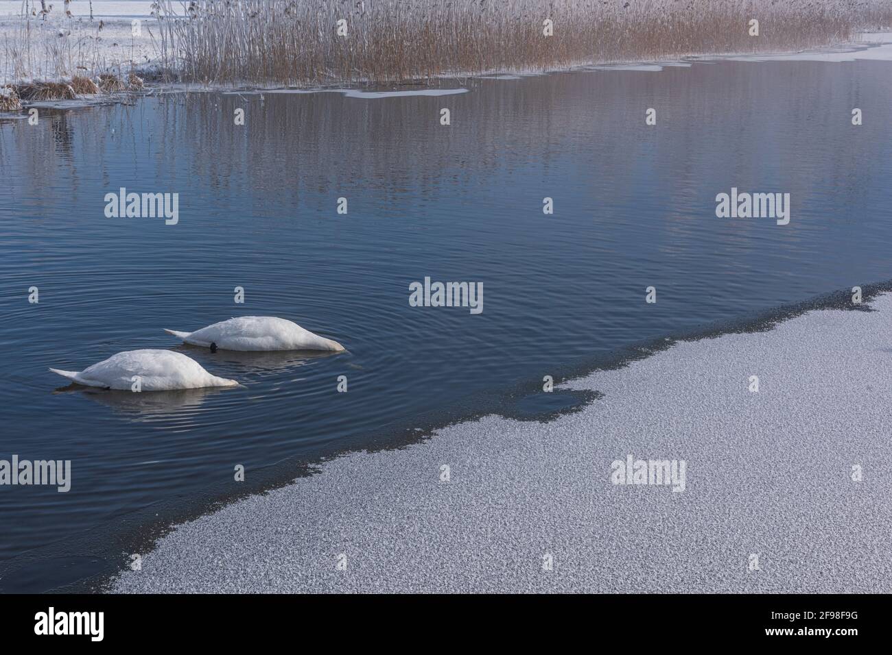
[[[324,463],[178,526],[112,589],[888,592],[892,295],[872,307],[596,371],[565,387],[604,396],[553,422]],[[630,455],[685,462],[684,490],[617,485]]]

